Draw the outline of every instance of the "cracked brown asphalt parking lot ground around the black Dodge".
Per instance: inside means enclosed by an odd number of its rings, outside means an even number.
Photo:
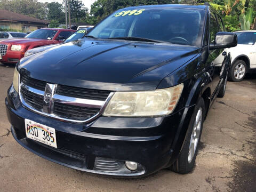
[[[13,139],[4,103],[13,69],[0,63],[0,191],[256,191],[256,74],[228,82],[214,102],[193,172],[117,179],[46,161]]]

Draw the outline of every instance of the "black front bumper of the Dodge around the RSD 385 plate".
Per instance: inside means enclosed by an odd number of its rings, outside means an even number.
[[[117,177],[141,177],[170,166],[179,155],[193,111],[190,107],[166,117],[99,117],[90,124],[67,123],[23,107],[12,86],[5,105],[13,137],[21,146],[67,167]],[[26,138],[25,118],[54,127],[58,148]],[[99,158],[118,162],[120,169],[97,169]],[[137,162],[140,169],[130,171],[124,161]]]

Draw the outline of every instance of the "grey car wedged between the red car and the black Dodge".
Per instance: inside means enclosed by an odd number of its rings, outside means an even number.
[[[63,43],[68,43],[68,42],[71,42],[71,41],[78,40],[79,38],[83,38],[86,33],[87,33],[86,29],[79,29],[74,34],[69,36]],[[62,43],[59,43],[59,44],[62,44]],[[30,49],[30,50],[26,51],[24,57],[27,57],[28,55],[31,55],[31,54],[35,54],[35,53],[45,51],[45,50],[50,49],[50,48],[52,48],[54,46],[57,46],[59,44],[45,45],[45,46],[41,46],[41,47],[36,47],[34,49]]]

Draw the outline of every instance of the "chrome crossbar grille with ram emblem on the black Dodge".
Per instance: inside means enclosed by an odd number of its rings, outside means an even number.
[[[48,89],[51,85],[57,88],[51,93],[51,101],[47,102],[46,87]],[[98,117],[111,95],[113,93],[110,91],[49,84],[20,75],[20,99],[25,107],[39,114],[70,122],[85,123]]]

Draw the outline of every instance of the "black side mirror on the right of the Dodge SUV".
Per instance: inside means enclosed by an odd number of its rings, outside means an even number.
[[[209,45],[210,50],[225,49],[237,45],[237,35],[230,32],[218,32],[214,44]]]

